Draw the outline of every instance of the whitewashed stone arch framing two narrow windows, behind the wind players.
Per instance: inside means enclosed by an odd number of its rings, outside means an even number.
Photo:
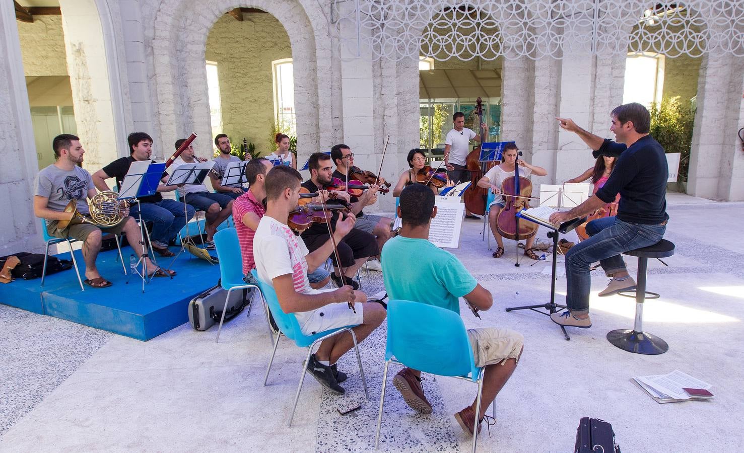
[[[217,19],[235,7],[256,7],[283,24],[292,45],[298,143],[307,152],[317,150],[321,135],[320,112],[322,109],[328,115],[330,109],[327,105],[321,107],[318,98],[315,30],[303,5],[293,0],[219,0],[210,4],[166,0],[161,4],[155,16],[155,23],[161,29],[155,31],[153,54],[161,66],[155,68],[155,82],[162,146],[170,149],[167,144],[171,138],[192,129],[199,135],[211,136],[205,45]],[[170,48],[173,42],[178,45]]]

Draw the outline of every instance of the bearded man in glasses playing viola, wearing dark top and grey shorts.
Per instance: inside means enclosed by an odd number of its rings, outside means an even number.
[[[330,157],[333,159],[333,163],[336,164],[336,171],[333,172],[333,177],[346,182],[349,169],[354,165],[354,153],[351,152],[351,149],[347,145],[337,144],[330,149]],[[374,214],[365,214],[365,206],[373,205],[377,201],[379,185],[371,184],[369,187],[359,198],[350,196],[351,211],[356,214],[356,225],[354,225],[354,228],[358,228],[376,237],[377,247],[379,250],[382,250],[382,245],[393,234],[391,225],[393,225],[394,220]],[[375,271],[382,271],[378,260],[370,260],[368,266]]]

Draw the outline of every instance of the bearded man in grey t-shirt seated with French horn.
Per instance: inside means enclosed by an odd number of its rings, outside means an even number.
[[[144,254],[141,231],[131,216],[126,216],[117,225],[107,228],[79,222],[76,219],[66,228],[58,228],[60,220],[68,220],[73,216],[73,213],[65,212],[65,207],[71,200],[77,200],[78,212],[83,215],[88,214],[90,212],[88,199],[95,196],[97,190],[90,173],[78,166],[83,163],[83,154],[85,154],[80,138],[70,134],[57,135],[52,142],[52,147],[57,161],[41,170],[36,176],[33,184],[33,213],[46,220],[46,228],[50,236],[70,237],[83,242],[86,285],[93,288],[111,286],[111,282],[101,277],[95,266],[95,260],[100,251],[101,231],[126,234],[126,239],[135,252],[139,256],[145,256],[148,272],[151,275],[167,277],[168,275]]]

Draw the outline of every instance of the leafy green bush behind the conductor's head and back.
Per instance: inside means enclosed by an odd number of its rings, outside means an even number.
[[[695,110],[680,102],[679,96],[664,97],[651,104],[651,136],[666,152],[679,152],[680,181],[687,181]]]

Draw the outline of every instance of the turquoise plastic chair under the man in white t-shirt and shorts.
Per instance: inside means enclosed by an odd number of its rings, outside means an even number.
[[[305,335],[300,329],[300,324],[298,323],[297,318],[295,318],[294,313],[285,313],[281,309],[279,300],[277,298],[277,293],[274,291],[274,287],[260,280],[257,276],[257,273],[255,273],[255,269],[251,271],[251,273],[253,273],[256,277],[256,280],[258,280],[258,286],[260,286],[261,292],[263,292],[263,297],[266,298],[266,303],[269,305],[269,309],[271,310],[272,315],[274,315],[274,321],[279,327],[279,335],[277,335],[276,341],[274,343],[272,358],[269,359],[269,367],[266,368],[266,376],[263,379],[263,385],[266,385],[266,382],[269,380],[269,371],[272,370],[272,362],[274,362],[274,356],[277,352],[279,338],[281,338],[281,335],[284,335],[286,336],[286,338],[295,341],[295,344],[297,344],[298,347],[307,347],[305,361],[302,362],[300,384],[297,386],[297,393],[295,393],[295,403],[292,405],[292,413],[289,414],[289,426],[292,426],[292,420],[295,418],[295,409],[297,408],[297,402],[300,399],[302,382],[305,379],[305,373],[307,373],[307,367],[305,366],[305,364],[310,361],[310,354],[315,348],[315,345],[325,340],[326,338],[332,337],[333,335],[339,335],[343,332],[349,332],[351,334],[351,338],[354,341],[354,350],[356,351],[356,362],[359,364],[359,376],[362,377],[362,387],[364,387],[365,397],[369,401],[370,394],[367,391],[367,380],[365,379],[365,370],[362,367],[362,356],[359,355],[359,344],[357,344],[356,342],[356,335],[354,334],[354,331],[351,330],[351,328],[356,327],[356,325],[340,327],[339,329],[326,330],[324,332],[318,332],[315,335]]]

